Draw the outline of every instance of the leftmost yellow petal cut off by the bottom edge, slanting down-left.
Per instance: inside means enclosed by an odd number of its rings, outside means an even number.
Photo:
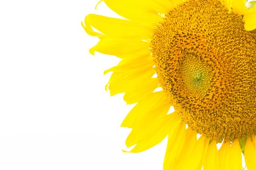
[[[174,131],[170,132],[163,163],[163,170],[175,170],[175,162],[178,161],[181,155],[181,151],[185,143],[185,136],[185,123],[178,125]]]

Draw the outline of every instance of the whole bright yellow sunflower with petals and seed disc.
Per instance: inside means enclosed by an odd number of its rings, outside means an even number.
[[[242,154],[256,170],[255,1],[101,1],[126,19],[82,26],[100,39],[91,54],[121,59],[104,73],[111,95],[136,103],[121,124],[129,152],[168,136],[163,170],[241,170]]]

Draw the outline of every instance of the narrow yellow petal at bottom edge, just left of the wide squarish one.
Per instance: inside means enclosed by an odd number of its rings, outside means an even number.
[[[206,151],[203,170],[218,170],[218,150],[216,141],[212,141]]]

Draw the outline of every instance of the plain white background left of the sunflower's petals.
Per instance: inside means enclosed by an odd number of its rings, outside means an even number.
[[[104,90],[115,57],[80,22],[97,0],[0,1],[0,170],[161,170],[166,140],[123,153],[131,106]]]

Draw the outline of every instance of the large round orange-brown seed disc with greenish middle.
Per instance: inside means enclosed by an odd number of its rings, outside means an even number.
[[[188,0],[152,37],[159,82],[182,121],[216,140],[256,132],[256,30],[219,0]]]

